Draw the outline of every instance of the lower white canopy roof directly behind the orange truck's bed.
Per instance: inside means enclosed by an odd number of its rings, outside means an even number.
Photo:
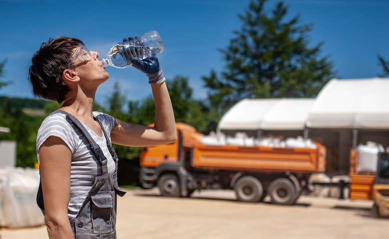
[[[303,130],[315,99],[243,99],[220,119],[217,130]]]

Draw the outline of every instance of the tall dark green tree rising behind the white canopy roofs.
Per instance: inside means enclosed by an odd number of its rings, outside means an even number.
[[[251,0],[240,30],[225,49],[226,62],[218,76],[211,70],[202,77],[214,111],[223,114],[243,98],[314,97],[334,77],[329,56],[320,56],[322,42],[310,47],[297,14],[286,19],[288,6],[280,1],[266,12],[267,0]]]

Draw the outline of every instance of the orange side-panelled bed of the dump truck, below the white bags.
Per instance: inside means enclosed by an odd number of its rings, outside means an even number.
[[[326,148],[246,147],[205,145],[194,147],[192,166],[219,170],[258,172],[314,173],[324,172]]]

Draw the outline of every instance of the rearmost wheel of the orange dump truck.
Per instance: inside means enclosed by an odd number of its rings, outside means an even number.
[[[269,185],[269,195],[275,204],[292,205],[296,202],[296,190],[286,178],[277,178]]]

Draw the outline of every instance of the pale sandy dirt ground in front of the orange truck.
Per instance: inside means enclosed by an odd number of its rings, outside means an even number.
[[[118,239],[385,239],[389,219],[372,201],[301,197],[294,206],[241,203],[232,191],[165,198],[157,190],[119,198]],[[266,201],[266,199],[265,199]],[[0,230],[1,239],[47,239],[42,227]]]

